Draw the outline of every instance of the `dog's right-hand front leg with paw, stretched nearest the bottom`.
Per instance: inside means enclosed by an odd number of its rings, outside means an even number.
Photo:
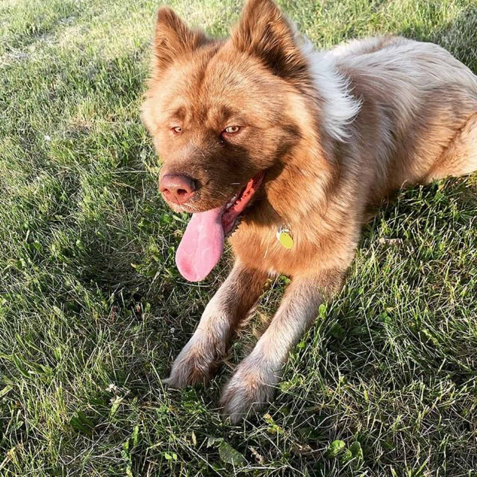
[[[293,278],[267,331],[224,387],[221,404],[231,422],[270,402],[290,350],[315,320],[321,302],[341,289],[342,277],[328,270]]]

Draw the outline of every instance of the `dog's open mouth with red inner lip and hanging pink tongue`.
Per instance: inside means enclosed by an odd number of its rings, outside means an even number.
[[[203,280],[217,264],[239,215],[262,183],[264,173],[252,177],[247,185],[221,207],[192,214],[186,232],[177,248],[176,264],[189,281]]]

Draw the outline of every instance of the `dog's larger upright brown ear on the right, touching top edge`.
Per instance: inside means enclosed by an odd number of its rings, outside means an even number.
[[[260,58],[278,76],[297,78],[307,71],[294,28],[272,0],[247,0],[231,38],[239,51]]]

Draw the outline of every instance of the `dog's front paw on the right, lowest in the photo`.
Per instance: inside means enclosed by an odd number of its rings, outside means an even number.
[[[247,363],[240,364],[222,391],[223,418],[237,424],[250,411],[259,411],[273,400],[279,380],[278,374],[260,367],[254,369]]]

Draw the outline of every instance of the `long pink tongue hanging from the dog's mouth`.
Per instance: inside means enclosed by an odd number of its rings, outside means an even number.
[[[224,207],[193,214],[177,248],[176,264],[189,281],[207,277],[224,251],[222,214]]]

